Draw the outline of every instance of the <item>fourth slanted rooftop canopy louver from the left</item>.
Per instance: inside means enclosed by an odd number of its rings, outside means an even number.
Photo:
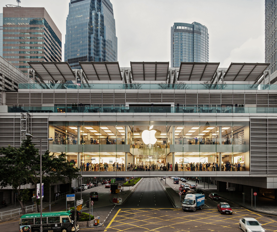
[[[220,63],[181,62],[178,81],[212,81]]]

